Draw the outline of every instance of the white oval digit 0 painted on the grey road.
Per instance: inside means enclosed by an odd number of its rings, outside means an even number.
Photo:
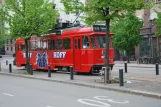
[[[78,99],[77,101],[79,103],[86,104],[86,105],[90,105],[90,106],[95,106],[95,107],[110,107],[111,106],[108,103],[104,103],[104,102],[97,101],[97,100],[91,100],[91,99]]]

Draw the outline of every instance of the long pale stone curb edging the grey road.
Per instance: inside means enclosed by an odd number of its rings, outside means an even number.
[[[129,89],[125,89],[125,88],[124,89],[121,89],[121,88],[118,89],[118,88],[114,88],[114,87],[104,87],[104,86],[99,86],[99,85],[78,83],[78,82],[74,82],[72,80],[71,81],[53,80],[53,79],[49,79],[49,78],[40,78],[40,77],[34,77],[34,76],[30,76],[30,75],[12,74],[12,73],[4,73],[4,72],[0,72],[0,74],[1,75],[8,75],[8,76],[15,76],[15,77],[30,78],[30,79],[35,79],[35,80],[59,82],[59,83],[77,85],[77,86],[90,87],[90,88],[98,88],[98,89],[104,89],[104,90],[109,90],[109,91],[130,93],[130,94],[134,94],[134,95],[142,95],[142,96],[146,96],[146,97],[161,99],[161,94],[152,93],[152,92],[145,92],[145,91],[140,91],[140,90],[129,90]]]

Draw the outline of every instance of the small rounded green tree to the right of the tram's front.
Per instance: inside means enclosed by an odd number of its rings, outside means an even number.
[[[137,18],[133,13],[127,13],[124,18],[117,19],[111,25],[113,36],[113,45],[120,50],[125,50],[128,54],[141,42],[140,28],[143,21]]]

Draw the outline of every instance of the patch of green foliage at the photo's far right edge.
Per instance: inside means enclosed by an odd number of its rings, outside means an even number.
[[[161,9],[161,4],[160,4],[160,9]],[[157,12],[157,18],[155,19],[154,23],[157,26],[157,31],[156,31],[156,35],[160,36],[161,35],[161,12]]]

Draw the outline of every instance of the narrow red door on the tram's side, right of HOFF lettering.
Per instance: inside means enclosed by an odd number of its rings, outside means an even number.
[[[80,37],[74,37],[74,71],[81,68]]]

